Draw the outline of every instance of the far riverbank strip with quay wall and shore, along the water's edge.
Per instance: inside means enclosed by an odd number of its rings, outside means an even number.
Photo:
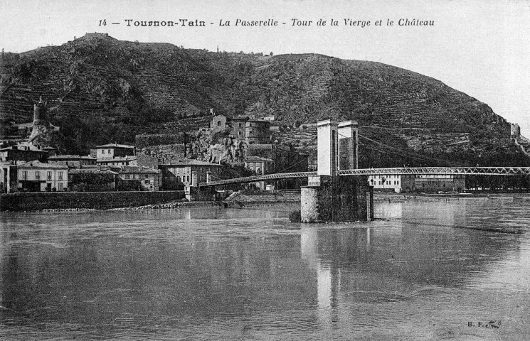
[[[489,199],[530,200],[529,193],[433,193],[398,194],[375,193],[373,201],[451,201],[468,197]],[[156,210],[179,207],[258,207],[300,205],[300,193],[295,191],[240,191],[222,201],[188,202],[184,191],[161,192],[66,192],[14,193],[0,195],[0,211],[85,211],[85,210]]]

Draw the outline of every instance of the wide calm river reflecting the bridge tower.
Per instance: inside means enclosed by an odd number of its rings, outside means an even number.
[[[0,338],[528,340],[530,197],[296,209],[3,212]]]

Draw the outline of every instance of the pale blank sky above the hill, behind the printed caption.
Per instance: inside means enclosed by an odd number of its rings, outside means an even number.
[[[399,26],[400,19],[434,26]],[[142,27],[134,21],[204,21]],[[235,21],[277,26],[235,26]],[[293,19],[312,21],[292,25]],[[326,26],[317,26],[322,19]],[[337,21],[332,26],[331,21]],[[346,26],[344,19],[370,21]],[[106,26],[100,25],[103,20]],[[131,26],[127,26],[127,20]],[[230,21],[230,26],[221,22]],[[381,25],[376,25],[381,21]],[[393,25],[387,25],[393,21]],[[119,24],[112,24],[119,23]],[[283,24],[285,23],[285,24]],[[0,48],[23,52],[87,32],[246,53],[321,53],[403,67],[488,104],[530,137],[530,1],[0,0]]]

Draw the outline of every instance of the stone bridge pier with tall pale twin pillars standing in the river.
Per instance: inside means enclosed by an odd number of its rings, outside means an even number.
[[[356,121],[317,123],[317,175],[301,190],[302,222],[373,220],[373,188],[368,175],[339,176],[359,166]]]

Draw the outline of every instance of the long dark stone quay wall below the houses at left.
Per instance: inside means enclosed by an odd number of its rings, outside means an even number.
[[[137,207],[184,198],[184,191],[161,192],[57,192],[0,195],[0,211],[96,209]]]

